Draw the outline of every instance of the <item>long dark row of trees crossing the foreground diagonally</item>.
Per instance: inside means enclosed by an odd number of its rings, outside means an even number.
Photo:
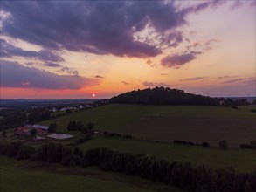
[[[15,142],[0,145],[0,154],[17,156],[19,159],[30,158],[32,161],[59,162],[66,166],[99,166],[104,171],[138,175],[192,192],[256,191],[255,172],[241,174],[233,168],[193,168],[187,162],[156,160],[145,154],[123,154],[107,148],[94,148],[84,153],[78,147],[65,147],[56,143],[48,143],[33,149]]]

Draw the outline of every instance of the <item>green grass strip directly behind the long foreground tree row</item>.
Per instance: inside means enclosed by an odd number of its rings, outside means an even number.
[[[205,165],[209,168],[232,167],[239,172],[256,170],[256,153],[252,149],[227,149],[218,147],[183,146],[154,141],[136,141],[122,138],[95,137],[80,144],[83,150],[93,147],[107,147],[112,150],[132,154],[149,154],[167,161],[190,161],[193,166]]]

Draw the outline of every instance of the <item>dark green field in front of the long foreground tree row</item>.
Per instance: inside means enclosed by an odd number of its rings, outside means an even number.
[[[98,168],[66,168],[58,164],[17,161],[0,157],[1,192],[182,192],[160,182],[149,182]]]

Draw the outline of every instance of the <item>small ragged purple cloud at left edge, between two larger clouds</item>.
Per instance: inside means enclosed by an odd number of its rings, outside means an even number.
[[[12,57],[24,57],[24,58],[36,58],[41,61],[52,61],[52,62],[62,62],[63,58],[52,53],[49,50],[41,51],[24,51],[23,49],[10,45],[4,39],[0,39],[1,45],[1,57],[12,58]]]

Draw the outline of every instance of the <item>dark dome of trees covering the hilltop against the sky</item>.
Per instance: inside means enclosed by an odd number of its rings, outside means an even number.
[[[183,90],[155,87],[122,93],[110,99],[111,103],[158,105],[218,105],[218,99],[185,93]]]

